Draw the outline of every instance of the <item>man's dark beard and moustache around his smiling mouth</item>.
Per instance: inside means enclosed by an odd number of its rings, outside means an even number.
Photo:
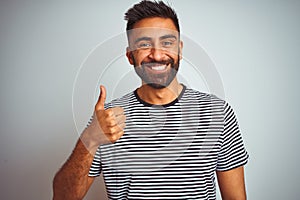
[[[135,72],[144,83],[154,89],[163,89],[169,86],[170,83],[174,80],[179,69],[179,60],[180,58],[178,55],[178,61],[176,63],[172,58],[163,61],[152,60],[150,62],[142,62],[140,66],[137,65],[135,59],[133,58],[133,63]],[[162,73],[151,73],[151,70],[149,70],[149,68],[153,66],[161,65],[166,65],[167,70]],[[169,65],[171,67],[169,67]]]

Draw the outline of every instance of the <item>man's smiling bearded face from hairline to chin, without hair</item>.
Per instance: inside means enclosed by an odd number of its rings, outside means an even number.
[[[130,30],[127,57],[143,84],[160,89],[175,78],[182,42],[171,19],[146,18]]]

